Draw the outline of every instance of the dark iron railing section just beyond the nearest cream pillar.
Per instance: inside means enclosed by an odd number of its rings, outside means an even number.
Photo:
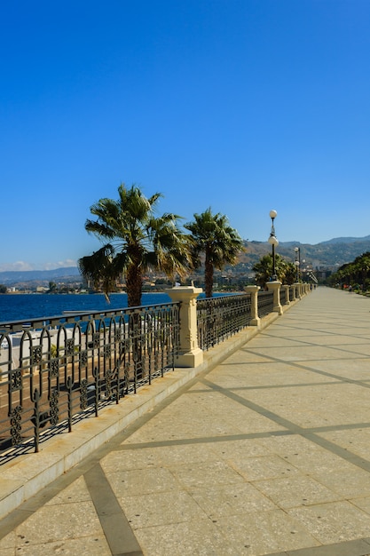
[[[202,350],[216,346],[248,326],[250,294],[197,299],[198,344]]]

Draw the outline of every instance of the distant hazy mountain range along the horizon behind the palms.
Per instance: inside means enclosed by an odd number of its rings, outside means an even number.
[[[240,263],[249,267],[258,260],[271,253],[268,242],[244,242],[247,251],[240,255]],[[350,263],[358,255],[370,251],[370,235],[366,237],[335,237],[327,242],[311,245],[300,242],[280,242],[276,252],[281,257],[295,260],[295,247],[299,247],[301,263],[305,260],[314,268],[326,267],[335,269],[345,263]],[[0,284],[12,286],[24,282],[36,282],[48,285],[49,282],[79,282],[80,273],[77,266],[66,266],[54,270],[25,270],[0,272]]]

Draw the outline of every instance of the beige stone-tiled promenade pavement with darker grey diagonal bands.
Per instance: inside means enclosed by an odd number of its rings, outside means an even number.
[[[370,299],[321,287],[180,387],[183,369],[159,379],[150,410],[4,515],[0,556],[369,555],[369,323]],[[0,487],[63,442],[6,464]]]

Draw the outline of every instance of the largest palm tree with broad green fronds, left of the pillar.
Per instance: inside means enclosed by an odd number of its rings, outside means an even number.
[[[161,197],[149,198],[139,187],[118,187],[118,201],[100,199],[91,206],[97,220],[87,219],[85,229],[105,242],[92,255],[80,258],[83,276],[109,298],[116,281],[125,275],[129,306],[140,306],[143,275],[149,268],[173,277],[186,274],[191,263],[190,236],[181,232],[176,214],[154,216]]]

